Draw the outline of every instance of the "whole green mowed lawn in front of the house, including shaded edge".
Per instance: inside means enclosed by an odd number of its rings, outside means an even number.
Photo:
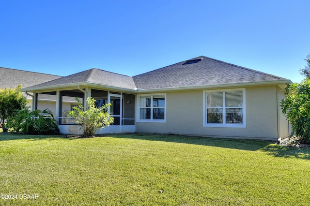
[[[0,160],[0,205],[310,205],[310,150],[263,141],[1,133]]]

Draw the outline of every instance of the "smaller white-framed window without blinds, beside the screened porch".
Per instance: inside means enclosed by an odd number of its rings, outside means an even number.
[[[166,122],[166,93],[137,95],[137,122]]]

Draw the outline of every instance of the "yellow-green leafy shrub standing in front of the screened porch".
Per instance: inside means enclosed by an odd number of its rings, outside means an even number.
[[[76,118],[76,123],[81,125],[83,130],[83,137],[93,137],[94,133],[99,129],[104,129],[113,123],[113,117],[108,113],[109,104],[105,104],[99,108],[95,106],[96,100],[92,97],[87,98],[88,108],[83,110],[82,103],[78,101],[78,106],[75,106],[72,111],[68,113],[70,117]]]

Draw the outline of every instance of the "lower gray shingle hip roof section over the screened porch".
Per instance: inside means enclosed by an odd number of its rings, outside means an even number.
[[[135,89],[136,85],[130,76],[107,72],[100,69],[90,69],[69,76],[64,76],[42,84],[34,85],[30,88],[48,87],[55,85],[65,85],[70,83],[95,83],[118,88]]]

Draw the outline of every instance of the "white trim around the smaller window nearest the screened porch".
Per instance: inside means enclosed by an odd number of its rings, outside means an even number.
[[[164,96],[165,97],[165,112],[164,112],[164,119],[140,119],[140,97],[151,97],[151,99],[153,100],[154,96]],[[151,101],[152,102],[152,101]],[[166,123],[166,118],[167,118],[167,95],[166,93],[153,93],[153,94],[140,94],[137,95],[136,98],[136,103],[137,103],[137,120],[136,122],[157,122],[157,123]],[[151,113],[153,113],[153,103],[151,103]]]

